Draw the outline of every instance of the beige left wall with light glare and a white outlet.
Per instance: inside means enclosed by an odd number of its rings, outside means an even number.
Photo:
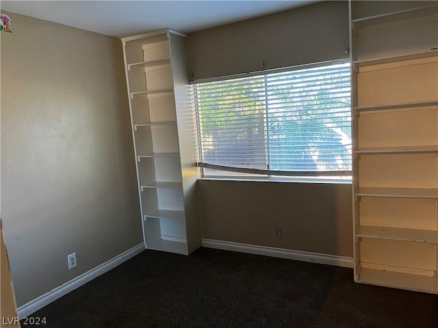
[[[20,306],[138,245],[142,229],[120,40],[9,14],[1,210]]]

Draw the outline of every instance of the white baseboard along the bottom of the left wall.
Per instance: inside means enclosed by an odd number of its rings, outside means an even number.
[[[90,282],[92,279],[99,277],[99,275],[103,275],[103,273],[114,269],[119,264],[122,264],[133,256],[140,254],[142,251],[144,251],[144,249],[144,243],[140,243],[131,249],[124,251],[122,254],[118,254],[118,256],[112,258],[111,260],[98,265],[94,269],[91,269],[90,271],[71,279],[69,282],[52,289],[50,292],[46,292],[44,295],[41,295],[40,297],[21,305],[21,307],[18,308],[18,316],[20,319],[29,316],[30,314],[40,310],[41,308],[44,308],[44,306],[49,305],[53,301],[63,297],[76,288],[79,288],[87,282]]]

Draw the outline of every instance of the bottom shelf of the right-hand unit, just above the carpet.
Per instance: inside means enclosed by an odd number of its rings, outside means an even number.
[[[437,278],[392,271],[361,269],[358,282],[392,288],[436,293]]]

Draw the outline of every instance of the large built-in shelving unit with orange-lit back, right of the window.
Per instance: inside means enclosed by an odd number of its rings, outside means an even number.
[[[438,294],[437,20],[350,1],[356,282]]]

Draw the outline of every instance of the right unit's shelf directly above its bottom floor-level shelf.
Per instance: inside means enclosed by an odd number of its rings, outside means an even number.
[[[391,239],[396,241],[438,243],[437,230],[359,226],[357,227],[356,236],[366,238]]]

